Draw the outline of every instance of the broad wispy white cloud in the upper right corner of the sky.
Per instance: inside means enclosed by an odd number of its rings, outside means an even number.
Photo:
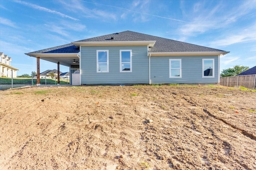
[[[195,36],[213,29],[224,28],[231,23],[235,23],[239,18],[244,17],[256,9],[256,1],[244,1],[243,4],[227,7],[223,2],[216,6],[207,6],[208,3],[200,1],[194,5],[193,11],[182,10],[186,18],[192,18],[190,23],[179,27],[182,35]]]

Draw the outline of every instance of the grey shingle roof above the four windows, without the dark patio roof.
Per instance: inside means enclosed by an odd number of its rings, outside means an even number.
[[[113,37],[113,39],[111,39]],[[184,43],[172,39],[166,39],[162,37],[156,37],[153,35],[147,35],[143,33],[137,33],[133,31],[123,31],[120,33],[113,33],[108,35],[102,35],[99,37],[93,37],[89,39],[83,39],[75,42],[90,42],[90,41],[156,41],[154,47],[150,49],[150,52],[213,52],[223,51],[219,49],[213,49],[200,45],[194,45],[190,43]]]

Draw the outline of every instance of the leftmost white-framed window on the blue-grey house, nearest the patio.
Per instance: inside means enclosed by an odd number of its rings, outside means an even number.
[[[97,50],[97,72],[108,72],[108,50]]]

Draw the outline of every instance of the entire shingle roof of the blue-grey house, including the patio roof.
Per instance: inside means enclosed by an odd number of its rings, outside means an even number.
[[[79,47],[75,46],[83,42],[118,42],[118,41],[155,41],[153,47],[149,48],[151,53],[203,53],[203,52],[218,52],[218,53],[229,53],[228,51],[223,51],[219,49],[213,49],[209,47],[204,47],[200,45],[194,45],[190,43],[184,43],[181,41],[176,41],[172,39],[166,39],[162,37],[156,37],[152,35],[147,35],[143,33],[137,33],[133,31],[123,31],[120,33],[112,33],[108,35],[102,35],[99,37],[93,37],[88,39],[83,39],[79,41],[74,41],[70,44],[60,45],[48,49],[43,49],[39,51],[34,51],[31,53],[26,53],[27,55],[34,55],[34,53],[79,53]],[[74,45],[75,44],[75,45]]]

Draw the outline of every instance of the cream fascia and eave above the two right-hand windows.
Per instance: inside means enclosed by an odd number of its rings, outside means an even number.
[[[151,56],[204,56],[204,55],[225,55],[229,51],[212,51],[212,52],[158,52],[150,53]]]

